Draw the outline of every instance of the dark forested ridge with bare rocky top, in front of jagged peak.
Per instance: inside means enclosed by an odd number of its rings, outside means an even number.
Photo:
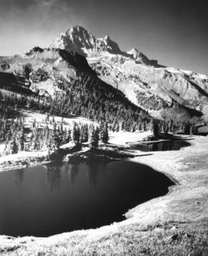
[[[35,47],[25,55],[0,59],[9,66],[6,72],[0,72],[0,88],[24,94],[24,101],[22,96],[17,97],[13,106],[30,106],[32,110],[66,117],[85,116],[99,122],[108,120],[113,129],[122,126],[131,130],[141,121],[149,123],[146,111],[99,79],[77,52]],[[25,94],[29,97],[25,98]]]

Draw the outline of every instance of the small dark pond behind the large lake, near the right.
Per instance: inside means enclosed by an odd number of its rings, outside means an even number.
[[[166,140],[154,143],[138,143],[131,145],[130,148],[133,150],[141,151],[167,151],[167,150],[180,150],[182,147],[190,146],[190,143],[187,143],[183,140]]]

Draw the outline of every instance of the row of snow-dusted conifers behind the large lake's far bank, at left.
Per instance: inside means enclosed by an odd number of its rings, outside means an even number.
[[[22,119],[18,118],[8,122],[0,122],[0,138],[5,141],[4,155],[21,151],[49,150],[54,152],[63,144],[72,141],[75,145],[87,143],[90,149],[99,147],[99,143],[108,143],[109,125],[107,122],[99,126],[91,124],[74,123],[72,129],[52,123],[52,129],[48,124],[39,127],[35,122],[31,127],[25,127]]]

